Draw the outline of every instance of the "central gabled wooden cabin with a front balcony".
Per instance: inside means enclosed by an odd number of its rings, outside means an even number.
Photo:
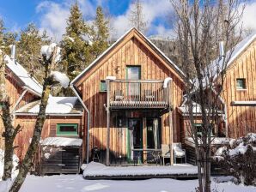
[[[87,153],[98,147],[109,165],[130,162],[137,149],[180,142],[183,76],[137,29],[125,33],[71,82],[88,108]]]

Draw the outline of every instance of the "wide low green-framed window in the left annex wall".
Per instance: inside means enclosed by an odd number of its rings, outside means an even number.
[[[57,135],[78,135],[78,124],[75,124],[75,123],[57,124]]]

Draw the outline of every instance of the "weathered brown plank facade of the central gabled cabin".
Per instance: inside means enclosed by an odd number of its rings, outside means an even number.
[[[128,99],[126,86],[127,82],[127,67],[140,68],[140,78],[134,83],[140,87],[140,95],[137,94],[138,99],[133,100],[133,103],[127,101]],[[75,81],[74,86],[82,94],[82,100],[88,107],[90,112],[90,124],[89,124],[89,150],[93,147],[100,147],[101,150],[107,148],[107,93],[101,92],[101,81],[106,80],[107,76],[115,76],[117,81],[111,81],[110,97],[123,97],[122,99],[113,99],[113,103],[109,103],[110,109],[110,156],[114,159],[123,159],[129,157],[131,154],[131,143],[129,138],[129,119],[139,119],[141,128],[141,138],[143,140],[143,148],[147,146],[147,120],[150,118],[160,119],[159,128],[161,128],[161,143],[169,144],[170,135],[174,135],[173,141],[180,141],[180,122],[179,114],[177,112],[177,106],[180,106],[182,102],[183,81],[182,74],[173,63],[171,63],[166,57],[163,57],[160,51],[151,45],[141,33],[136,29],[132,29],[129,33],[108,49],[99,59],[92,63],[88,69],[82,72]],[[171,113],[164,112],[165,107],[162,103],[161,109],[152,107],[149,105],[149,100],[146,101],[143,94],[143,82],[148,81],[157,87],[157,83],[161,83],[168,78],[172,78],[171,85],[169,87],[169,94],[166,100],[171,99],[170,103],[173,108]],[[126,82],[125,82],[126,81]],[[151,81],[151,82],[150,82]],[[154,83],[155,81],[155,83]],[[157,83],[156,83],[157,81]],[[120,86],[113,85],[122,83]],[[126,83],[126,84],[125,84]],[[117,88],[118,87],[118,88]],[[114,89],[114,90],[113,90]],[[122,90],[123,94],[117,94],[117,90]],[[159,93],[154,91],[154,88],[147,88],[151,93],[158,94],[162,97],[162,91]],[[115,92],[115,94],[114,94]],[[154,97],[155,98],[155,97]],[[163,99],[163,98],[162,98]],[[154,100],[153,100],[154,101]],[[114,103],[116,102],[116,103]],[[123,102],[123,103],[122,103]],[[130,102],[130,103],[129,103]],[[145,102],[145,103],[143,103]],[[147,105],[149,104],[149,105]],[[156,103],[155,103],[156,104]],[[160,104],[160,103],[159,103]],[[166,109],[169,110],[169,109]],[[171,114],[171,118],[169,118]],[[86,117],[85,123],[86,124]],[[173,123],[169,123],[169,121]],[[174,129],[174,133],[170,133],[171,129]],[[84,132],[86,135],[87,131]],[[85,137],[86,138],[86,137]],[[114,162],[113,162],[114,163]]]

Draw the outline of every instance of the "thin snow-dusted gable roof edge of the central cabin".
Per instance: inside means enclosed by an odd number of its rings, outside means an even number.
[[[100,57],[97,57],[97,58],[94,60],[93,63],[90,63],[86,69],[84,69],[79,75],[76,76],[76,78],[75,78],[73,81],[71,81],[70,84],[72,85],[72,84],[74,84],[76,81],[78,81],[78,80],[82,77],[82,75],[84,75],[89,69],[91,69],[91,68],[94,66],[94,64],[96,64],[98,61],[100,61],[101,58],[104,57],[104,56],[107,54],[107,52],[111,51],[115,45],[118,45],[119,42],[120,42],[122,39],[124,39],[127,34],[131,33],[132,30],[136,30],[138,33],[140,33],[140,34],[143,36],[143,38],[146,39],[146,41],[149,43],[149,45],[151,45],[152,47],[154,47],[155,50],[158,51],[158,52],[162,55],[162,57],[164,57],[164,58],[168,61],[168,63],[170,63],[170,66],[172,66],[176,71],[178,71],[178,72],[180,73],[180,75],[185,76],[185,74],[183,73],[183,71],[182,71],[176,64],[174,64],[174,62],[171,61],[162,51],[160,51],[146,36],[144,36],[143,33],[139,32],[139,31],[137,30],[137,28],[132,27],[132,28],[131,28],[129,31],[127,31],[123,36],[121,36],[113,45],[111,45],[110,47],[108,47],[108,49],[107,49],[106,51],[104,51],[104,52],[101,54]]]

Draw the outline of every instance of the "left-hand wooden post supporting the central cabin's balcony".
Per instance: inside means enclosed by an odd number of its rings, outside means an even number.
[[[107,83],[107,166],[109,164],[109,146],[110,146],[110,111],[109,111],[109,99],[110,99],[110,80],[106,80]]]

